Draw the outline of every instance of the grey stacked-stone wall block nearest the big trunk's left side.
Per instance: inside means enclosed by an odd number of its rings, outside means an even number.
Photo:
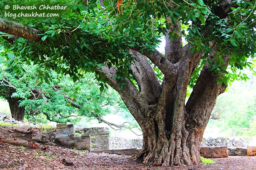
[[[109,149],[109,130],[106,127],[78,128],[76,133],[91,136],[91,150]]]

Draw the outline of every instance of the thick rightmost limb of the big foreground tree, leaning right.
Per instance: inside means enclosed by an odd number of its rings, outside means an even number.
[[[209,56],[209,59],[211,59],[212,62],[214,62],[215,53],[217,51],[218,45],[215,45]],[[223,57],[225,62],[223,66],[227,67],[228,58],[228,55]],[[201,71],[200,77],[198,78],[188,102],[186,103],[186,111],[188,113],[187,125],[189,128],[192,128],[193,124],[200,126],[207,123],[205,121],[209,120],[218,95],[223,93],[226,89],[224,83],[217,84],[219,76],[213,75],[208,67],[209,63],[207,62]]]

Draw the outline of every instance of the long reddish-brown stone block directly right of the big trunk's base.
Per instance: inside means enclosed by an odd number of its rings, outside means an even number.
[[[226,146],[221,147],[201,147],[200,155],[204,158],[227,158],[228,152]]]

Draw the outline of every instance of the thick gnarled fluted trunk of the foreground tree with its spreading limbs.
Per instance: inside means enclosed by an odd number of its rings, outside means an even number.
[[[128,79],[121,89],[118,81],[113,79],[116,73],[114,67],[103,67],[102,72],[110,78],[108,84],[119,92],[143,131],[143,149],[138,158],[143,158],[144,163],[156,165],[199,164],[205,127],[218,95],[224,92],[226,86],[217,84],[218,75],[213,75],[206,63],[189,100],[185,102],[189,79],[203,53],[192,54],[189,45],[180,51],[172,50],[175,48],[173,45],[170,47],[172,60],[158,51],[153,54],[143,51],[144,55],[130,51],[137,59],[131,69],[139,89]],[[171,57],[172,51],[175,51],[176,57]],[[217,51],[218,45],[215,45],[209,55],[212,61]],[[147,57],[165,75],[162,84]],[[225,56],[225,65],[227,59],[228,56]]]

